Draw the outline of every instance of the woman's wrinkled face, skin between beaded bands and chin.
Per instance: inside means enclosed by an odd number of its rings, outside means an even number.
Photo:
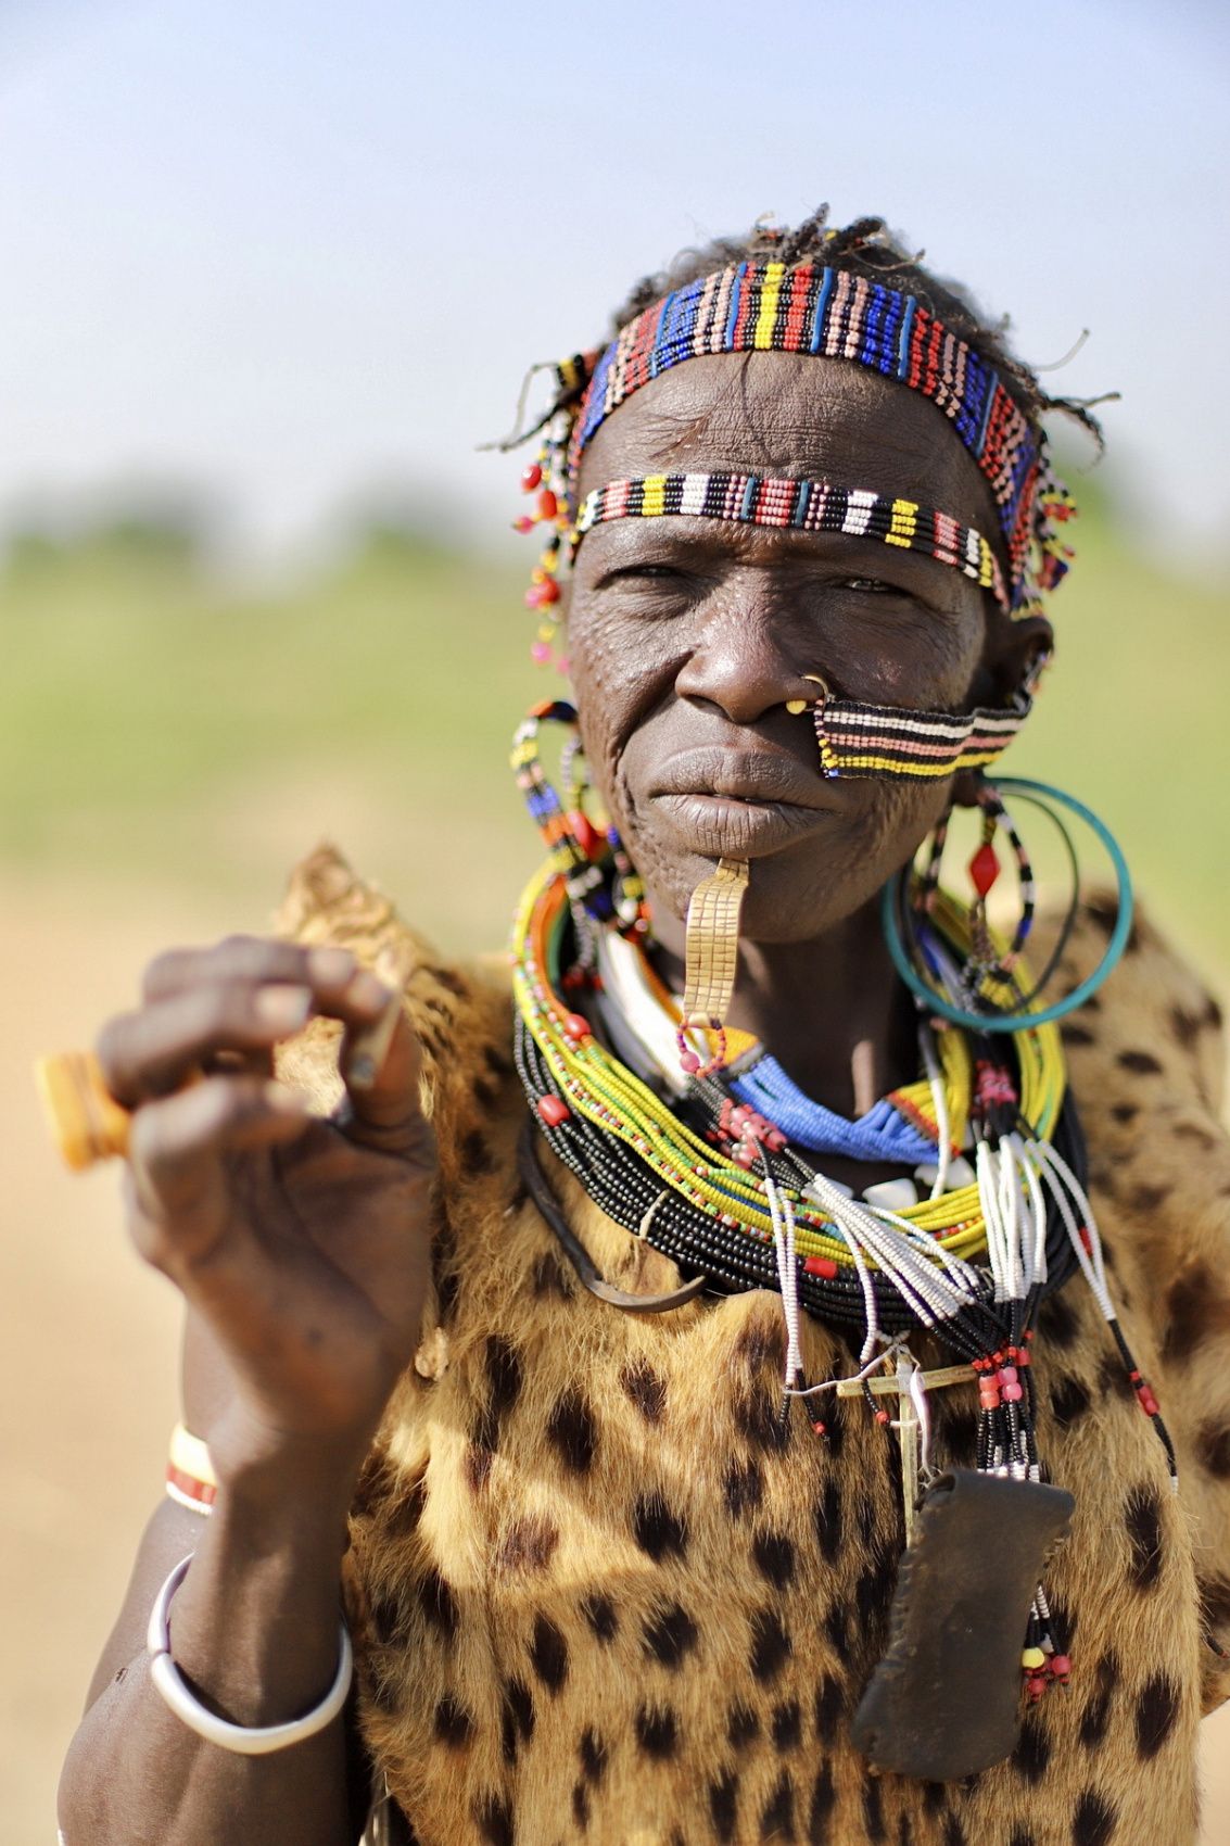
[[[787,353],[689,360],[585,450],[580,493],[730,469],[918,500],[997,532],[990,487],[935,404]],[[589,768],[661,925],[720,855],[750,860],[742,929],[800,941],[859,910],[940,818],[951,783],[826,781],[811,716],[833,696],[920,711],[995,703],[1043,624],[1008,624],[959,570],[844,533],[693,517],[595,526],[569,655]]]

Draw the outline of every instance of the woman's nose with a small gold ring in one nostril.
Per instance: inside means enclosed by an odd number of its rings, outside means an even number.
[[[717,705],[731,724],[755,724],[774,705],[814,698],[803,674],[816,663],[785,650],[787,628],[785,611],[757,587],[726,589],[676,674],[678,696]]]

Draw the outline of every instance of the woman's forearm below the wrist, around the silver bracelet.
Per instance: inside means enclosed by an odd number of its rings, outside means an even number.
[[[229,1722],[279,1724],[329,1691],[351,1486],[349,1469],[264,1466],[222,1486],[201,1521],[172,1602],[172,1658]],[[87,1711],[59,1815],[66,1846],[344,1846],[356,1837],[345,1726],[271,1756],[223,1750],[168,1709],[142,1650]]]

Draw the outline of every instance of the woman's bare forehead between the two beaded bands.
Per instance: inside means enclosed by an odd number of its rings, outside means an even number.
[[[693,469],[833,480],[997,530],[990,489],[944,414],[840,360],[722,353],[665,371],[598,428],[580,493]]]

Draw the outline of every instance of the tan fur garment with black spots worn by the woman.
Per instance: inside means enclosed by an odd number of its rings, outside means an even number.
[[[1075,980],[1114,912],[1086,905]],[[1066,1023],[1112,1292],[1178,1447],[1180,1492],[1080,1277],[1040,1313],[1038,1445],[1077,1512],[1045,1580],[1073,1678],[960,1783],[872,1774],[848,1720],[903,1545],[896,1438],[827,1397],[778,1418],[778,1296],[633,1316],[589,1296],[525,1194],[502,964],[440,962],[331,849],[283,929],[412,956],[440,1145],[423,1344],[362,1475],[347,1556],[360,1722],[419,1846],[1189,1846],[1200,1711],[1230,1696],[1230,1143],[1217,1006],[1138,923]],[[283,1076],[338,1098],[318,1021]],[[547,1152],[621,1289],[680,1272]],[[918,1338],[923,1362],[946,1362]],[[803,1316],[813,1379],[850,1348]],[[970,1466],[973,1384],[933,1394]]]

